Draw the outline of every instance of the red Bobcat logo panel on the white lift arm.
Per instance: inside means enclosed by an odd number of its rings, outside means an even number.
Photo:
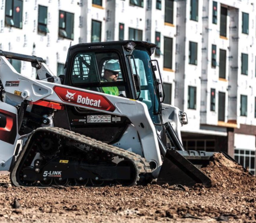
[[[53,89],[62,101],[68,103],[97,108],[109,112],[113,112],[116,109],[115,106],[103,95],[59,86],[55,86]]]

